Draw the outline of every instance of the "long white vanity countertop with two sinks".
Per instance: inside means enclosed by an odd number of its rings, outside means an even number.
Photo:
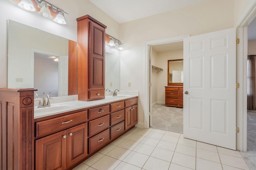
[[[40,118],[40,117],[46,117],[50,115],[56,115],[59,113],[64,113],[68,111],[73,111],[77,109],[84,109],[86,107],[92,107],[92,106],[98,106],[101,104],[107,104],[110,102],[116,102],[119,100],[124,100],[128,98],[137,97],[138,95],[128,95],[128,94],[120,94],[118,96],[106,96],[105,99],[100,100],[94,100],[89,102],[84,101],[72,101],[72,102],[62,102],[57,104],[51,104],[50,107],[43,107],[43,108],[37,108],[37,106],[34,107],[34,119]]]

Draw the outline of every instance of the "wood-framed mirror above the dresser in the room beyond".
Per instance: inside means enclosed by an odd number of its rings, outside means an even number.
[[[168,86],[183,86],[183,59],[168,60]]]

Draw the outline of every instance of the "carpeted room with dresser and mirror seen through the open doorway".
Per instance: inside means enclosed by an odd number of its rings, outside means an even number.
[[[163,71],[151,72],[152,83],[152,128],[176,133],[183,133],[183,108],[166,106],[166,86],[170,89],[181,89],[183,87],[183,42],[167,43],[152,46],[151,64],[162,68]],[[175,99],[182,96],[182,91],[168,92],[173,94],[170,101],[183,103],[183,99]],[[177,104],[178,104],[177,102]]]

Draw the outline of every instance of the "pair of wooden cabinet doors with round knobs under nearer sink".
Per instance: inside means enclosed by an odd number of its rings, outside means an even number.
[[[36,140],[36,170],[66,168],[87,156],[87,123]]]

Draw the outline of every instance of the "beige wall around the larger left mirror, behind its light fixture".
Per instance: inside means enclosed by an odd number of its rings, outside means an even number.
[[[106,33],[120,39],[119,23],[96,7],[90,0],[47,0],[47,2],[63,9],[69,15],[65,15],[66,25],[55,23],[53,20],[39,16],[37,12],[28,12],[21,9],[13,0],[0,0],[0,87],[7,86],[7,20],[11,19],[46,32],[71,39],[77,39],[76,18],[89,14],[96,20],[108,26]]]

